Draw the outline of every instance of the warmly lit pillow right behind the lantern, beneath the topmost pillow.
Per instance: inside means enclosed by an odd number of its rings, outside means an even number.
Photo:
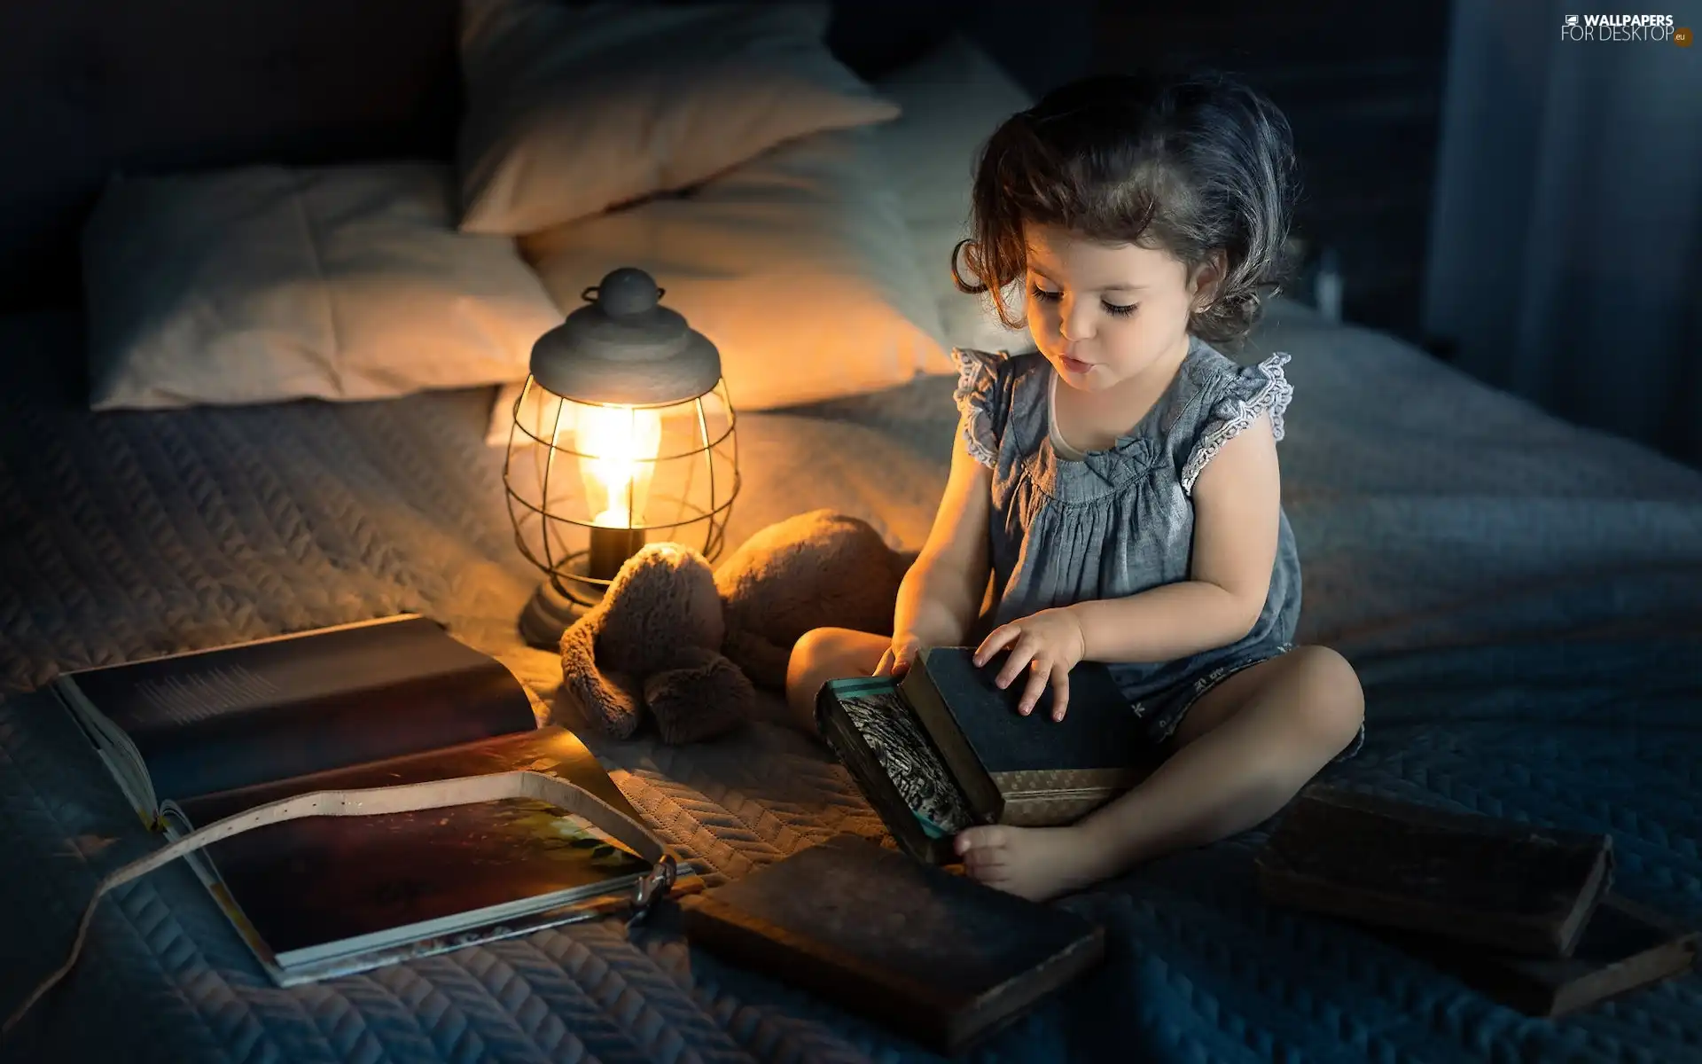
[[[621,266],[722,352],[737,410],[875,392],[955,373],[873,131],[781,145],[689,196],[652,199],[521,240],[563,312]],[[507,441],[517,388],[497,398]]]

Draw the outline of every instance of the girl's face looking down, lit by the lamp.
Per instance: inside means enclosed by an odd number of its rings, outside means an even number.
[[[1064,383],[1105,392],[1188,352],[1188,315],[1219,272],[1162,250],[1025,225],[1028,332]]]

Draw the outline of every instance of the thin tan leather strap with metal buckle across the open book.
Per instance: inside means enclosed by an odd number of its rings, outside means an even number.
[[[89,924],[94,919],[95,904],[104,894],[116,887],[123,887],[129,880],[143,877],[162,865],[168,865],[186,853],[194,853],[196,849],[211,846],[220,839],[228,839],[233,834],[242,834],[254,827],[277,824],[281,821],[294,821],[298,817],[371,817],[386,812],[414,812],[417,809],[443,809],[446,805],[471,805],[477,802],[495,802],[500,798],[536,798],[540,802],[550,802],[558,809],[565,809],[570,814],[591,821],[594,827],[606,831],[621,844],[630,846],[640,860],[648,861],[652,867],[650,875],[647,875],[633,892],[635,914],[647,912],[659,897],[665,895],[674,887],[677,873],[674,858],[665,851],[662,841],[657,839],[655,834],[591,792],[575,787],[567,780],[557,780],[555,776],[546,776],[543,773],[511,771],[485,776],[460,776],[454,780],[431,780],[426,783],[405,783],[398,787],[322,790],[296,795],[294,798],[281,798],[277,802],[257,805],[247,812],[208,824],[206,827],[192,831],[175,843],[157,849],[148,856],[138,858],[102,878],[95,887],[94,895],[89,899],[89,906],[83,909],[82,921],[77,924],[77,938],[71,940],[71,950],[65,958],[65,964],[43,979],[41,984],[37,984],[36,989],[24,999],[24,1003],[19,1004],[10,1016],[7,1016],[5,1027],[0,1027],[0,1035],[9,1033],[29,1013],[29,1010],[48,994],[48,991],[70,974],[71,967],[77,964],[78,953],[82,953],[83,940],[89,936]]]

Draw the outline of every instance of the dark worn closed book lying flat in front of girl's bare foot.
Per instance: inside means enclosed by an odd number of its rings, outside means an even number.
[[[683,902],[688,940],[936,1052],[1025,1015],[1105,955],[1088,919],[837,836]]]

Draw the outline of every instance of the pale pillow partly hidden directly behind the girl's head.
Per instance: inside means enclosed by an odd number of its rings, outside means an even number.
[[[892,160],[892,184],[904,204],[921,271],[940,310],[946,347],[1033,351],[1025,329],[1006,329],[987,296],[951,283],[951,249],[970,235],[970,184],[982,145],[1004,119],[1033,106],[992,58],[962,36],[878,85],[902,114],[877,129]],[[1006,296],[1021,315],[1023,286]]]

